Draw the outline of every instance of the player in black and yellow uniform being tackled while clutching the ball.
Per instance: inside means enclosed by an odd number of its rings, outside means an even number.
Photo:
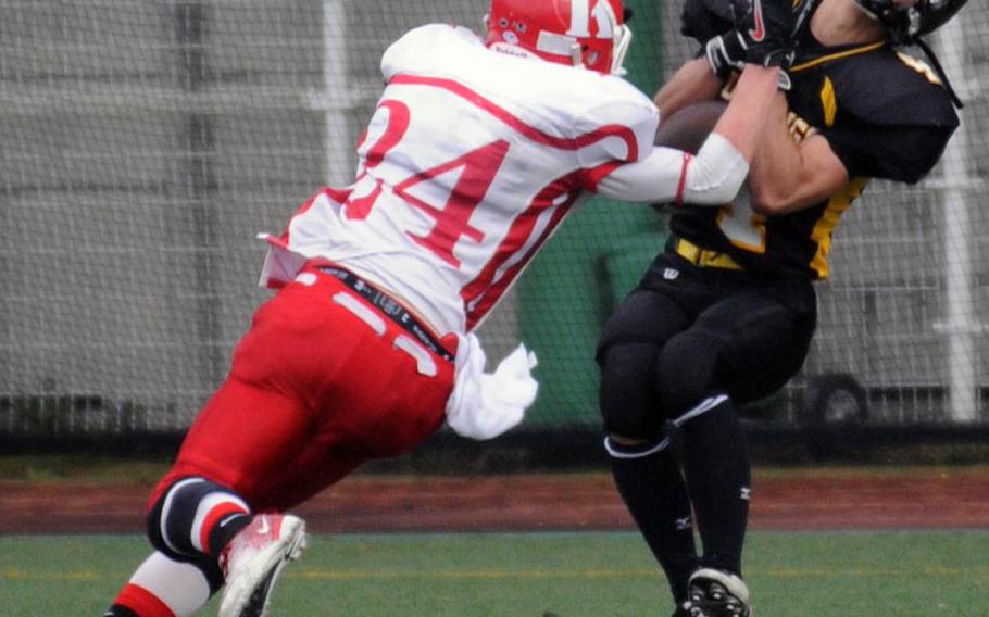
[[[964,3],[797,0],[789,79],[748,198],[673,206],[666,250],[602,331],[613,476],[677,617],[750,615],[741,574],[750,465],[736,406],[778,390],[803,364],[816,327],[813,281],[828,276],[831,234],[869,178],[918,181],[957,128],[961,103],[940,70],[899,49]],[[655,97],[669,125],[699,101],[730,97],[753,36],[731,27],[727,1],[687,0],[683,30],[702,48]],[[671,423],[683,459],[668,448]]]

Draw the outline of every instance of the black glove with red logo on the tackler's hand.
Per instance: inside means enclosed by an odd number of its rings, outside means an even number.
[[[731,0],[731,9],[735,32],[746,49],[746,62],[789,68],[793,63],[797,25],[792,1]]]

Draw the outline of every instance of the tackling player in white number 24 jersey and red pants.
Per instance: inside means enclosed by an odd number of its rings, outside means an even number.
[[[264,236],[278,292],[151,495],[155,552],[108,616],[190,615],[224,584],[222,616],[264,615],[304,547],[281,513],[445,421],[489,439],[522,419],[535,356],[485,373],[471,332],[584,197],[735,196],[779,96],[773,24],[691,156],[653,146],[656,108],[621,78],[622,0],[493,0],[486,22],[486,38],[427,25],[391,45],[354,182]]]

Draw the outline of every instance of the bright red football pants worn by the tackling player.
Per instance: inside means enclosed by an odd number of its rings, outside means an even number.
[[[422,375],[395,344],[410,338],[402,328],[336,277],[304,272],[254,314],[230,374],[150,504],[175,480],[202,476],[254,511],[284,511],[365,461],[408,452],[442,425],[453,364],[429,353],[437,373]],[[373,311],[384,335],[338,302],[341,293]]]

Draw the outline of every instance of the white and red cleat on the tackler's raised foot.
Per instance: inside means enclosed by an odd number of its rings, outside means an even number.
[[[220,554],[226,588],[218,617],[265,617],[281,569],[305,549],[305,522],[291,515],[259,514]]]

